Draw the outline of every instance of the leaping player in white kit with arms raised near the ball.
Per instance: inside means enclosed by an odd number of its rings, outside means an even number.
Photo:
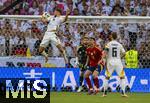
[[[70,14],[70,10],[66,12],[66,16],[63,18],[61,17],[61,9],[56,8],[54,11],[54,16],[45,18],[42,16],[41,20],[43,22],[48,23],[47,25],[47,31],[45,32],[45,35],[43,37],[43,40],[40,44],[39,52],[45,57],[45,62],[48,61],[48,54],[45,52],[45,48],[48,46],[48,44],[54,43],[56,47],[60,50],[61,54],[64,57],[65,63],[68,66],[68,59],[66,56],[66,52],[64,48],[61,45],[60,39],[57,37],[56,32],[59,26],[66,22],[68,19],[68,16]]]

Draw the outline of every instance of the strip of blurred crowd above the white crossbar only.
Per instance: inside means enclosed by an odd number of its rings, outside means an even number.
[[[11,5],[15,0],[0,0],[0,10]],[[53,14],[55,7],[63,14],[67,9],[71,15],[139,15],[150,16],[150,0],[22,0],[5,14],[41,15]]]

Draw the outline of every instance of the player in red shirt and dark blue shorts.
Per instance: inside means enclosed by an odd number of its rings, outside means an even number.
[[[102,70],[103,51],[96,46],[94,38],[90,38],[88,44],[89,44],[89,47],[87,48],[87,56],[88,56],[87,63],[88,63],[89,68],[86,70],[84,77],[89,87],[88,94],[91,95],[91,94],[97,94],[99,91],[98,75],[99,75],[99,72]],[[91,74],[93,75],[93,82],[94,82],[95,88],[93,88],[91,84],[91,80],[89,78]]]

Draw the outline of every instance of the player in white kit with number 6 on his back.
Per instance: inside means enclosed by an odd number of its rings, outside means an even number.
[[[127,97],[125,93],[125,72],[123,69],[123,64],[121,62],[121,57],[125,55],[125,50],[123,46],[117,42],[117,33],[111,34],[111,41],[106,45],[106,79],[104,82],[104,93],[103,97],[107,96],[107,89],[108,89],[108,80],[110,79],[112,73],[116,71],[117,75],[120,78],[120,85],[122,89],[122,96]]]

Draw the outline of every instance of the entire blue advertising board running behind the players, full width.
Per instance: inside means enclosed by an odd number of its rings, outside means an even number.
[[[150,92],[150,69],[125,69],[126,84],[131,92]],[[50,78],[52,87],[70,86],[75,89],[79,84],[79,69],[77,68],[11,68],[0,67],[0,78]],[[104,71],[99,75],[100,88],[103,87]],[[109,81],[109,87],[115,91],[119,78],[114,73]]]

